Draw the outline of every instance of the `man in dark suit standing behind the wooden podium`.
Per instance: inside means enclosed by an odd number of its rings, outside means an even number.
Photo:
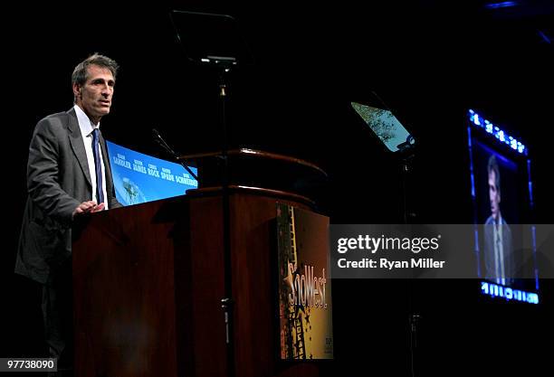
[[[72,365],[72,223],[84,213],[119,207],[100,118],[110,113],[118,65],[97,53],[72,74],[74,107],[34,128],[28,198],[15,272],[43,285],[51,357]]]

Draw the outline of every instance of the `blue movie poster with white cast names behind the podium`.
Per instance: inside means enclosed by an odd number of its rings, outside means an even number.
[[[116,197],[123,205],[184,195],[197,181],[184,166],[135,152],[106,141]],[[197,169],[190,168],[195,174]]]

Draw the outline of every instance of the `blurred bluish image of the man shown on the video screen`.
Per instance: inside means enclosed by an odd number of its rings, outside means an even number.
[[[510,285],[514,277],[511,229],[501,215],[501,175],[494,155],[489,158],[487,173],[491,216],[484,225],[485,278]]]

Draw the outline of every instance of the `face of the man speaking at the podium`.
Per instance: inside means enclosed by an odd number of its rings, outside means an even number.
[[[87,69],[87,80],[81,87],[73,84],[73,94],[77,99],[77,105],[98,123],[100,118],[110,113],[111,98],[115,80],[108,68],[91,65]]]

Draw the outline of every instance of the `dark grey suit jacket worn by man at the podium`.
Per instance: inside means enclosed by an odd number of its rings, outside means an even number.
[[[120,207],[100,135],[109,208]],[[92,198],[91,174],[74,108],[38,122],[29,146],[27,203],[15,272],[45,284],[72,254],[72,213]]]

